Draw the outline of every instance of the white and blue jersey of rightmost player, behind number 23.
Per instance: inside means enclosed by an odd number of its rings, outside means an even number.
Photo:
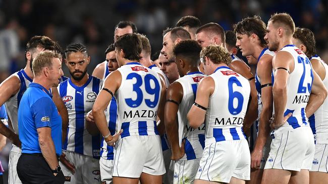
[[[325,76],[322,80],[324,86],[328,88],[328,65],[318,56],[314,55],[309,58],[317,59],[321,62],[325,70]],[[328,101],[324,100],[323,104],[315,113],[309,117],[310,127],[314,135],[316,144],[328,144]]]

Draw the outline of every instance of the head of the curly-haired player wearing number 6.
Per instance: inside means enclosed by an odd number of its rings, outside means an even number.
[[[200,61],[204,65],[206,75],[212,74],[217,64],[230,65],[231,60],[231,56],[227,49],[220,45],[203,47],[200,52]]]

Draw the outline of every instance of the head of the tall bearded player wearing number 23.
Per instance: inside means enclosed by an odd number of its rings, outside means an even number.
[[[287,13],[274,14],[267,22],[264,39],[270,51],[278,51],[279,44],[283,39],[291,39],[295,32],[295,23]]]

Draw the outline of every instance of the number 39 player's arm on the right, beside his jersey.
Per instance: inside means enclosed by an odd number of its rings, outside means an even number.
[[[163,135],[165,133],[164,109],[165,109],[167,89],[165,87],[165,82],[162,78],[160,78],[160,83],[161,83],[162,88],[160,91],[160,101],[159,101],[158,109],[157,109],[157,118],[159,118],[160,121],[159,121],[159,124],[157,125],[157,130],[158,130],[159,135]]]

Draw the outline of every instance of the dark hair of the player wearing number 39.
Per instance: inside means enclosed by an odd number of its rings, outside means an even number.
[[[123,50],[124,58],[130,61],[140,60],[142,44],[138,35],[132,33],[120,36],[115,42],[115,47]]]

